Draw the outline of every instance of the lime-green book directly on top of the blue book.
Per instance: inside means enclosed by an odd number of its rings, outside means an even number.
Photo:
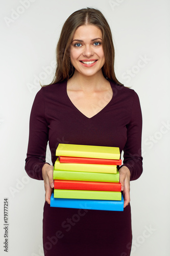
[[[120,201],[122,199],[122,193],[117,191],[54,189],[54,198]]]

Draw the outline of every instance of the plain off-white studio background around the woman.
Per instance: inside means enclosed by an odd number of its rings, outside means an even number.
[[[43,181],[30,179],[25,172],[29,117],[40,89],[38,80],[44,84],[52,80],[49,67],[54,67],[63,23],[84,7],[98,8],[107,18],[114,38],[116,76],[138,93],[141,103],[143,174],[131,182],[131,255],[168,256],[168,0],[1,0],[0,253],[43,255]],[[5,197],[9,199],[8,254],[3,248]]]

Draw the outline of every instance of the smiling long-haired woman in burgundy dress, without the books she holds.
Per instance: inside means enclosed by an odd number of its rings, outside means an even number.
[[[142,173],[141,110],[137,94],[114,73],[114,47],[103,14],[72,13],[61,31],[53,82],[37,93],[30,117],[26,172],[44,180],[45,256],[128,256],[131,251],[130,180]],[[53,166],[45,162],[49,141],[53,165],[59,143],[115,146],[124,211],[50,207]]]

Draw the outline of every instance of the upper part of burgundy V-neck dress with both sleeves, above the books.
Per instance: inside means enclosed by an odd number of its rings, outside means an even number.
[[[42,180],[42,166],[49,139],[53,163],[56,160],[54,152],[60,141],[70,144],[116,145],[121,152],[124,151],[124,165],[130,169],[131,180],[138,179],[142,173],[142,117],[137,94],[121,87],[101,112],[93,118],[87,118],[68,99],[66,84],[64,81],[44,87],[35,97],[26,159],[28,175]],[[112,86],[116,92],[114,84]]]

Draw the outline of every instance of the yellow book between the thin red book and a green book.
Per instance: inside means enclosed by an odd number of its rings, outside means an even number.
[[[116,174],[117,165],[109,164],[87,164],[87,163],[60,163],[57,158],[55,170],[73,170],[75,172],[90,172],[90,173],[107,173]]]

